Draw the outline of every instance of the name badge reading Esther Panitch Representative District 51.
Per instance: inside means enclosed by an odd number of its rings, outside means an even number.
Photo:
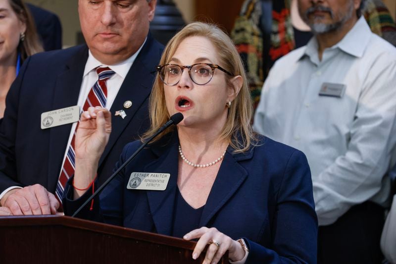
[[[127,189],[163,191],[168,185],[169,173],[132,172]]]

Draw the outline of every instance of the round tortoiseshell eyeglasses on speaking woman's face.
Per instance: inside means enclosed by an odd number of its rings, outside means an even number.
[[[164,64],[158,65],[156,70],[159,73],[159,77],[164,82],[164,84],[173,86],[179,83],[182,77],[184,68],[189,69],[189,75],[191,80],[198,85],[204,85],[210,82],[213,78],[213,73],[215,69],[219,69],[230,76],[234,76],[229,71],[226,71],[217,64],[211,63],[197,63],[190,66],[182,66],[178,64]]]

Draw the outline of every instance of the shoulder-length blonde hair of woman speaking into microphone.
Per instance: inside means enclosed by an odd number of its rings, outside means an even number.
[[[169,62],[169,59],[184,39],[195,36],[205,37],[210,40],[217,50],[220,65],[234,76],[242,76],[242,88],[228,109],[227,120],[221,131],[220,139],[228,140],[231,147],[235,149],[235,153],[245,152],[249,149],[250,145],[254,145],[257,141],[250,125],[253,105],[247,85],[245,69],[231,39],[216,25],[193,22],[185,26],[168,42],[161,56],[160,65]],[[229,76],[230,78],[232,77]],[[142,141],[152,136],[170,117],[166,108],[163,82],[158,74],[156,75],[150,96],[149,112],[151,127],[143,135]],[[158,135],[154,141],[174,129],[175,127],[168,128]]]

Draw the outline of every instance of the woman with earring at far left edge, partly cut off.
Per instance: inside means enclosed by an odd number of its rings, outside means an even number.
[[[0,118],[5,97],[24,60],[42,51],[26,5],[21,0],[0,0]]]

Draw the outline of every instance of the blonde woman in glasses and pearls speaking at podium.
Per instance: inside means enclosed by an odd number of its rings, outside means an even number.
[[[305,156],[252,132],[241,58],[214,25],[187,25],[168,43],[150,97],[147,140],[171,115],[184,119],[151,141],[77,216],[197,239],[205,263],[226,251],[236,263],[316,263],[317,218]],[[113,118],[119,118],[113,116]],[[83,112],[75,175],[65,190],[72,214],[95,186],[111,132],[110,112]],[[141,141],[128,144],[116,167]]]

